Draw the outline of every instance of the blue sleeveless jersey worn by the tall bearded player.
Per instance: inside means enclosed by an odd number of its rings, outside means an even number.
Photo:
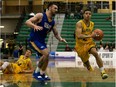
[[[55,21],[52,20],[51,22],[49,22],[46,13],[43,13],[43,18],[42,18],[41,22],[37,24],[38,26],[43,27],[43,30],[34,31],[34,29],[32,29],[29,40],[45,43],[45,38],[47,36],[47,33],[49,33],[51,31],[54,24],[55,24]]]

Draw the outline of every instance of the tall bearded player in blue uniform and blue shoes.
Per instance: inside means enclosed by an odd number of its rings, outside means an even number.
[[[66,40],[58,34],[56,24],[53,19],[57,11],[57,5],[54,3],[49,3],[45,13],[37,13],[34,17],[25,22],[28,27],[32,28],[29,38],[30,46],[38,53],[42,54],[39,59],[38,67],[33,73],[34,78],[37,80],[50,80],[50,78],[45,74],[49,62],[49,52],[45,43],[47,34],[50,31],[53,31],[56,39],[66,42]]]

